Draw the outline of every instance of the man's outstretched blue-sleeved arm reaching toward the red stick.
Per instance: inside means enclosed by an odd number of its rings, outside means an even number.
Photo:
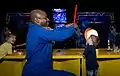
[[[46,30],[44,28],[40,28],[37,30],[39,37],[47,40],[47,41],[63,41],[69,37],[71,37],[75,33],[75,28],[73,26],[64,27],[60,30]]]

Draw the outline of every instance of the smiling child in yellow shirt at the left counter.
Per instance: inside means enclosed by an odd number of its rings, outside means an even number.
[[[16,36],[14,34],[7,34],[5,42],[0,45],[0,59],[7,54],[12,54],[12,44],[16,41]]]

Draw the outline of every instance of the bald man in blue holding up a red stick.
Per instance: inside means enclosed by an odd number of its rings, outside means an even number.
[[[59,29],[48,29],[49,19],[42,10],[30,13],[26,40],[26,58],[22,76],[75,76],[72,73],[52,69],[52,41],[63,41],[75,33],[71,24]]]

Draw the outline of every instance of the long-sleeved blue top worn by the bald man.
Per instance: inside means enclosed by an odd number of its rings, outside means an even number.
[[[23,68],[23,76],[43,76],[43,73],[50,72],[52,69],[52,41],[63,41],[74,33],[73,26],[48,30],[40,25],[30,24],[26,39],[27,62]]]

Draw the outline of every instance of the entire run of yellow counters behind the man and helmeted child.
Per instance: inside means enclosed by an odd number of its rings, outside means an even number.
[[[77,76],[86,76],[85,59],[80,55],[84,49],[62,49],[53,51],[53,68],[75,73]],[[99,63],[99,76],[120,76],[120,53],[107,51],[106,48],[96,49]],[[0,62],[0,76],[21,76],[25,63],[25,54],[8,55]]]

